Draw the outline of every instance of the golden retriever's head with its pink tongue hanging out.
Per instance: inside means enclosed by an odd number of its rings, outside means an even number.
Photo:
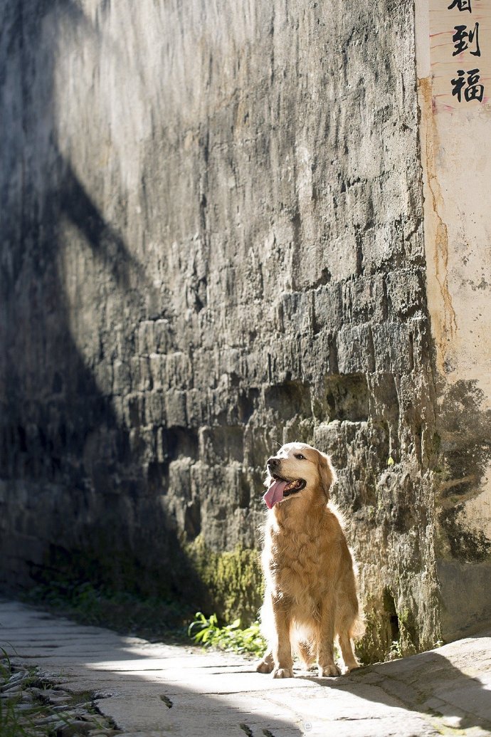
[[[268,509],[308,492],[322,492],[325,501],[336,482],[336,472],[325,453],[305,443],[287,443],[268,458],[264,501]]]

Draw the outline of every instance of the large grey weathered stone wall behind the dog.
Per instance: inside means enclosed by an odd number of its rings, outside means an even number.
[[[182,535],[260,544],[299,439],[339,469],[372,652],[433,644],[412,1],[2,6],[4,579],[84,551],[178,589]]]

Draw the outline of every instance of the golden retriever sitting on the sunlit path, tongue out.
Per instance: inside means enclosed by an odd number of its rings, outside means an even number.
[[[269,649],[256,670],[291,678],[297,654],[306,668],[317,661],[319,676],[339,676],[334,639],[349,672],[358,668],[352,640],[364,626],[353,557],[329,502],[336,472],[328,455],[304,443],[283,445],[267,472],[261,626]]]

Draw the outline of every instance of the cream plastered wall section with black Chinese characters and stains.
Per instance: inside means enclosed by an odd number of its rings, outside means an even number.
[[[462,13],[459,7],[417,2],[426,293],[439,438],[435,553],[445,639],[491,618],[491,7],[481,0]],[[462,49],[456,43],[460,24],[484,29],[480,55],[475,34]],[[482,99],[453,94],[459,69],[477,69],[486,80]]]

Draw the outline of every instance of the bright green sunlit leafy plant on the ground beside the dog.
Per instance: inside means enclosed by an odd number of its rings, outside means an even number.
[[[245,629],[241,629],[240,619],[221,627],[216,614],[206,618],[202,612],[197,612],[194,621],[188,627],[188,635],[197,645],[214,647],[226,652],[250,653],[261,657],[266,649],[266,641],[261,635],[257,621]]]

